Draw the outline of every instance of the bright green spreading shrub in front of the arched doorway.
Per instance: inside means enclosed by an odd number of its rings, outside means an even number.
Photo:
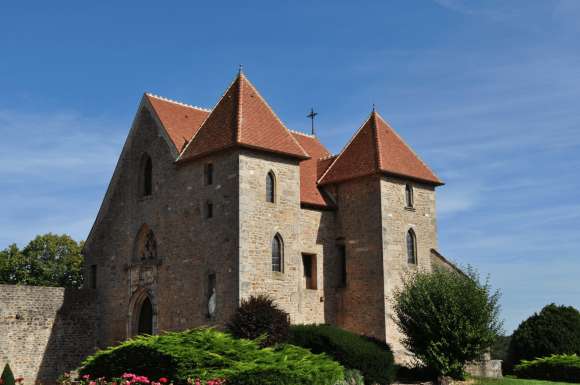
[[[92,378],[125,372],[178,384],[224,378],[231,385],[333,385],[344,378],[344,369],[326,355],[292,345],[260,348],[212,329],[139,336],[95,353],[80,370]]]

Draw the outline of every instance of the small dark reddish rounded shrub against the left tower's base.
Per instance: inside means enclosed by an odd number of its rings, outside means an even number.
[[[238,338],[260,339],[260,345],[272,346],[287,340],[290,317],[274,301],[259,295],[242,300],[242,304],[227,325],[228,331]]]

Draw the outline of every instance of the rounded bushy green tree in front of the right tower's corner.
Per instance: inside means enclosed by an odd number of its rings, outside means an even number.
[[[418,272],[395,292],[395,322],[421,365],[462,379],[465,364],[480,358],[501,331],[499,297],[472,268]]]

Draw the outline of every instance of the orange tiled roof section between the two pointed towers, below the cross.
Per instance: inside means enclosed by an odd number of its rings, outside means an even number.
[[[292,135],[310,155],[310,159],[300,162],[300,203],[329,207],[330,204],[318,189],[316,181],[318,180],[319,160],[330,156],[330,152],[315,136],[295,131],[292,132]]]

